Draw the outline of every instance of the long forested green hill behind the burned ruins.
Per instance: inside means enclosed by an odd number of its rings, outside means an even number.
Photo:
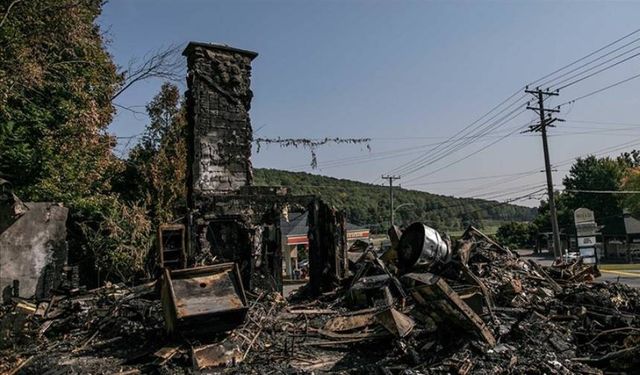
[[[285,186],[293,194],[316,194],[347,213],[347,220],[374,230],[386,230],[389,220],[389,188],[304,172],[254,169],[255,184]],[[459,231],[469,224],[494,229],[508,221],[530,221],[535,208],[482,199],[455,198],[397,188],[396,224],[424,222],[434,228]]]

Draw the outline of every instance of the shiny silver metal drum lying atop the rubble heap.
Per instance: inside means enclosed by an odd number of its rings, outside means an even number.
[[[404,270],[427,266],[435,261],[448,262],[451,245],[437,230],[422,223],[413,223],[402,232],[398,245],[398,263]]]

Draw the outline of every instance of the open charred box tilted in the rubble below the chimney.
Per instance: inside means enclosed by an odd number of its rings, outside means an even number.
[[[206,334],[242,324],[247,298],[235,263],[164,270],[162,309],[167,333]]]

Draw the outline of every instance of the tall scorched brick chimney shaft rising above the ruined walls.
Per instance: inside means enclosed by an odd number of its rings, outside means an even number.
[[[187,57],[189,205],[237,193],[253,180],[249,119],[256,52],[190,42]]]

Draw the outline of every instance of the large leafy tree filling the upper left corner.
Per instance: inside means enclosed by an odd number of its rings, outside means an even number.
[[[102,0],[0,5],[0,175],[24,199],[105,192],[119,168],[106,127],[121,76],[95,24],[101,7]]]

